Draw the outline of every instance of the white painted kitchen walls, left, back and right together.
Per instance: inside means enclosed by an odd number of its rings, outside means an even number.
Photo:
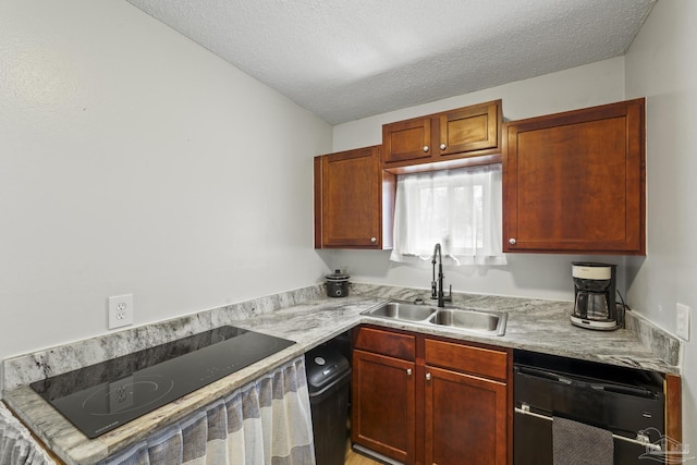
[[[313,250],[311,157],[379,144],[382,123],[427,112],[502,98],[514,120],[622,100],[625,86],[648,97],[649,253],[621,280],[633,307],[672,330],[675,302],[697,306],[696,17],[695,2],[658,2],[626,60],[342,124],[332,146],[326,123],[126,2],[3,0],[0,359],[107,332],[106,298],[121,293],[142,325],[307,285],[322,259],[354,281],[427,287],[428,265]],[[447,282],[571,298],[576,258],[511,255]],[[693,449],[695,344],[683,384]]]

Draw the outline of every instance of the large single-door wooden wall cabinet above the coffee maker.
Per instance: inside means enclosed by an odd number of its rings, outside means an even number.
[[[504,124],[504,252],[646,254],[644,105]]]

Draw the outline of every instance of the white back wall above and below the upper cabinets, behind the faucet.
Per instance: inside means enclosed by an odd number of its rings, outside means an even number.
[[[519,81],[486,90],[366,118],[334,126],[334,151],[380,144],[382,124],[496,99],[503,100],[506,120],[519,120],[560,111],[624,100],[622,57]],[[389,261],[384,250],[337,250],[332,262],[345,269],[353,281],[429,287],[430,261],[423,266]],[[571,261],[590,259],[621,265],[619,289],[624,290],[622,257],[509,254],[504,267],[452,267],[445,269],[445,284],[454,291],[571,301]]]

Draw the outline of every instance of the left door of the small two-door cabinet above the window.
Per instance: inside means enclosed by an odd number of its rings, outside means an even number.
[[[386,166],[400,161],[431,157],[431,118],[415,118],[382,126],[382,161]]]

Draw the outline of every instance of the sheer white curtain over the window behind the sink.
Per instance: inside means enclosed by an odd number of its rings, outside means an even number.
[[[505,265],[501,166],[398,178],[392,261],[431,258],[449,265]]]

